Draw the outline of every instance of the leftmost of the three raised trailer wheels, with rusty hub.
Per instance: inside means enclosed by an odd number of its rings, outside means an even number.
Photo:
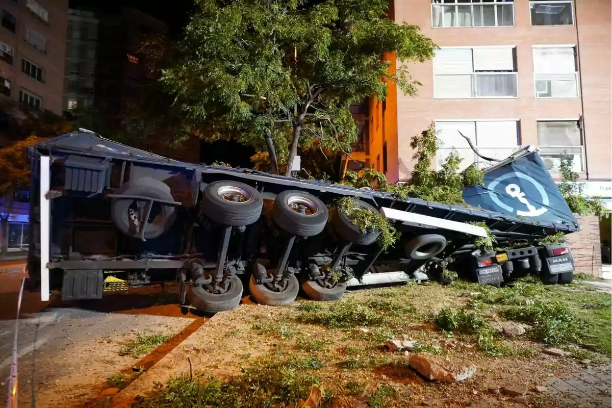
[[[259,220],[264,201],[259,191],[235,181],[215,181],[204,188],[203,212],[226,226],[241,227]]]

